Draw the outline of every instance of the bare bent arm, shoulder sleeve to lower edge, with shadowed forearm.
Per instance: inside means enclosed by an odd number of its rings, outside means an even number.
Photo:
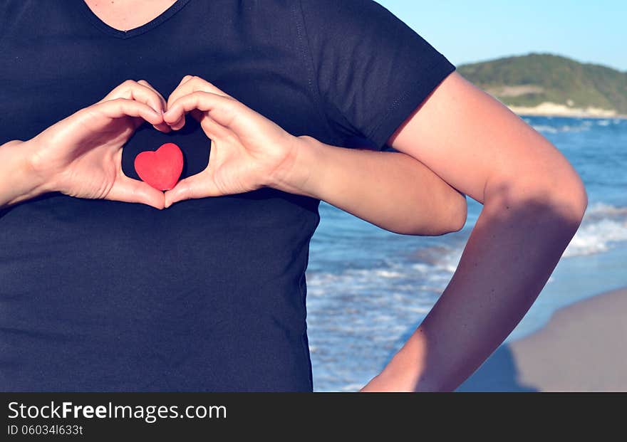
[[[581,223],[586,191],[548,140],[458,73],[390,144],[484,208],[444,293],[363,391],[451,391],[537,298]]]

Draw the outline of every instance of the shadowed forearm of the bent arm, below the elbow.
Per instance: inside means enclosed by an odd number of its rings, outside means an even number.
[[[536,195],[487,198],[450,284],[364,391],[452,391],[512,332],[583,216],[573,199]]]

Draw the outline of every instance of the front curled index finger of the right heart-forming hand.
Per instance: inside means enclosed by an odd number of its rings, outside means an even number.
[[[229,127],[238,132],[243,130],[241,127],[242,119],[236,119],[235,115],[243,115],[249,112],[254,112],[249,107],[242,105],[234,98],[224,97],[223,95],[217,95],[209,92],[193,92],[188,95],[184,95],[168,107],[165,114],[163,114],[163,120],[172,125],[178,122],[181,117],[185,116],[185,113],[192,110],[202,110],[207,112],[210,117],[220,125]],[[239,124],[237,123],[239,120]]]

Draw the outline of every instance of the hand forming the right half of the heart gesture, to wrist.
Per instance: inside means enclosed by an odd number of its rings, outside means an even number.
[[[165,207],[177,201],[239,194],[269,186],[289,172],[298,137],[199,77],[187,75],[167,100],[163,115],[173,130],[190,113],[211,140],[204,171],[165,192]]]

